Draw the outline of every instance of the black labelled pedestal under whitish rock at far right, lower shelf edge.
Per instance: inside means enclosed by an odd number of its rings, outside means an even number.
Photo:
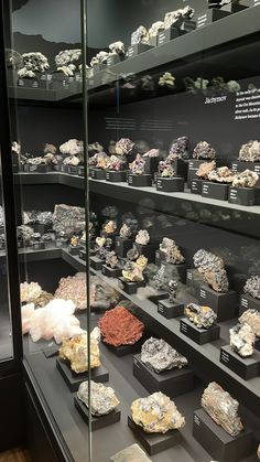
[[[245,380],[258,377],[260,374],[260,353],[254,352],[250,357],[241,357],[229,345],[220,350],[220,362]]]

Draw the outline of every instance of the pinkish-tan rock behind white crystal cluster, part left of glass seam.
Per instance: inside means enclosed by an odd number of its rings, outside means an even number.
[[[62,278],[54,294],[55,299],[72,300],[78,310],[87,308],[87,284],[85,272]]]

